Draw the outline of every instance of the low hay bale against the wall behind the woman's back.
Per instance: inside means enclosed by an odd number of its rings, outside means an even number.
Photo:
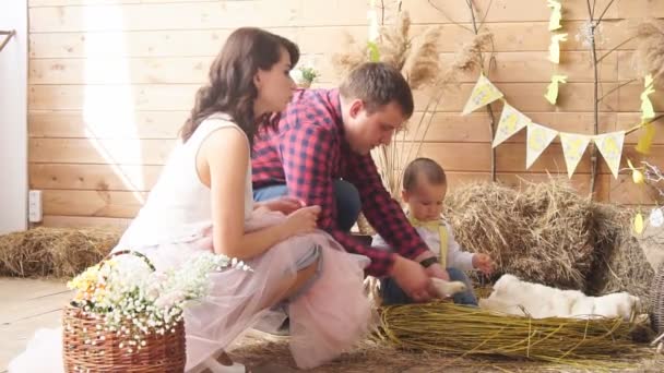
[[[72,277],[99,262],[120,239],[114,228],[35,228],[0,236],[0,275]]]

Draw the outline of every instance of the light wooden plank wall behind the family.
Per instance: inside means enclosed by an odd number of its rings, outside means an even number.
[[[597,0],[597,13],[610,0]],[[377,1],[380,3],[380,1]],[[386,0],[392,2],[392,0]],[[413,33],[442,27],[443,59],[471,34],[465,1],[405,0]],[[478,0],[486,10],[489,0]],[[590,53],[577,35],[588,19],[586,2],[564,1],[561,64],[547,60],[550,10],[545,0],[493,0],[486,27],[495,34],[496,69],[491,80],[507,99],[534,121],[550,128],[592,133],[593,72]],[[364,0],[31,0],[29,1],[29,185],[44,190],[45,224],[49,226],[124,225],[143,203],[175,143],[179,127],[204,81],[208,67],[235,27],[260,26],[296,40],[304,61],[334,84],[330,57],[346,47],[344,32],[367,35],[368,1]],[[627,37],[631,20],[664,17],[664,1],[618,0],[605,14],[600,48],[603,55]],[[392,15],[388,12],[388,22]],[[628,43],[601,64],[601,94],[637,76],[635,45]],[[569,75],[559,106],[543,94],[558,70]],[[486,115],[460,117],[476,74],[463,76],[458,92],[443,98],[435,113],[423,154],[438,159],[458,188],[489,178],[490,139]],[[601,132],[627,129],[639,118],[639,83],[616,89],[601,106]],[[416,93],[423,97],[422,93]],[[664,108],[664,95],[653,98]],[[417,100],[422,110],[424,99]],[[499,115],[500,107],[496,107]],[[637,134],[625,154],[633,152]],[[663,164],[664,130],[648,159]],[[525,171],[524,135],[497,149],[499,179],[542,180],[547,172],[565,175],[559,144],[553,144]],[[651,201],[627,177],[614,180],[601,167],[597,196],[640,204]],[[590,181],[589,156],[572,181],[583,193]]]

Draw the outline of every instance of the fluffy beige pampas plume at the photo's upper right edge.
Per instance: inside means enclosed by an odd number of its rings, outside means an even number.
[[[640,73],[652,74],[661,82],[664,75],[664,21],[649,20],[639,24],[635,37],[638,41],[635,57]]]

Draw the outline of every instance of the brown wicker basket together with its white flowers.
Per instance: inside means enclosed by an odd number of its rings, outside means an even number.
[[[66,372],[182,372],[183,311],[206,296],[211,273],[229,267],[250,270],[205,253],[156,272],[133,251],[87,268],[68,284],[75,293],[63,315]]]

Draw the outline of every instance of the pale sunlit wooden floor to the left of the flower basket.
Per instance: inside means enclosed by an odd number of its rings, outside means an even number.
[[[7,372],[36,329],[60,325],[60,310],[70,297],[62,281],[0,277],[0,372]]]

